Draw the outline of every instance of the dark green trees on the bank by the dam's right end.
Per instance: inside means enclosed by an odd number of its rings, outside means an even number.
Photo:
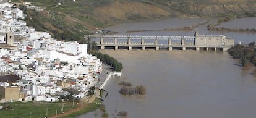
[[[228,49],[228,53],[234,59],[241,59],[241,65],[244,69],[247,69],[251,65],[256,66],[255,42],[249,43],[248,46],[236,44],[234,47]]]

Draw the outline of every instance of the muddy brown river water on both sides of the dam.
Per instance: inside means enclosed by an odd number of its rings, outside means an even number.
[[[255,19],[255,18],[251,18]],[[251,20],[250,21],[253,21]],[[156,30],[186,26],[207,19],[168,19],[151,22],[125,23],[108,30],[120,35],[193,35],[194,31],[133,32],[127,30]],[[245,19],[246,20],[246,19]],[[256,19],[255,19],[256,20]],[[254,21],[255,21],[254,20]],[[237,24],[244,20],[237,20]],[[248,22],[250,23],[250,22]],[[165,24],[165,25],[164,25]],[[231,25],[234,23],[231,22]],[[225,24],[228,27],[228,24]],[[255,27],[254,27],[255,28]],[[206,25],[197,28],[200,34],[224,34],[236,42],[255,41],[255,34],[237,32],[208,32]],[[155,51],[103,50],[122,62],[122,78],[111,78],[104,89],[108,98],[103,102],[109,117],[126,111],[128,117],[216,118],[255,117],[256,78],[251,70],[242,70],[237,60],[227,52],[217,51]],[[122,96],[118,90],[121,80],[134,86],[143,85],[145,96]],[[117,112],[116,112],[117,110]],[[90,112],[80,117],[100,117]]]

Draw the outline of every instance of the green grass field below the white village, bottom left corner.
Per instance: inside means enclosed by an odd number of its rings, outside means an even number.
[[[64,112],[70,111],[73,107],[73,102],[65,103],[45,103],[45,102],[15,102],[15,103],[1,103],[1,106],[11,106],[12,109],[0,110],[0,117],[5,118],[18,118],[18,117],[46,117],[46,111],[49,116],[54,116],[56,111],[58,114],[62,114],[62,106],[64,106]],[[74,102],[74,109],[77,108],[77,104]]]

